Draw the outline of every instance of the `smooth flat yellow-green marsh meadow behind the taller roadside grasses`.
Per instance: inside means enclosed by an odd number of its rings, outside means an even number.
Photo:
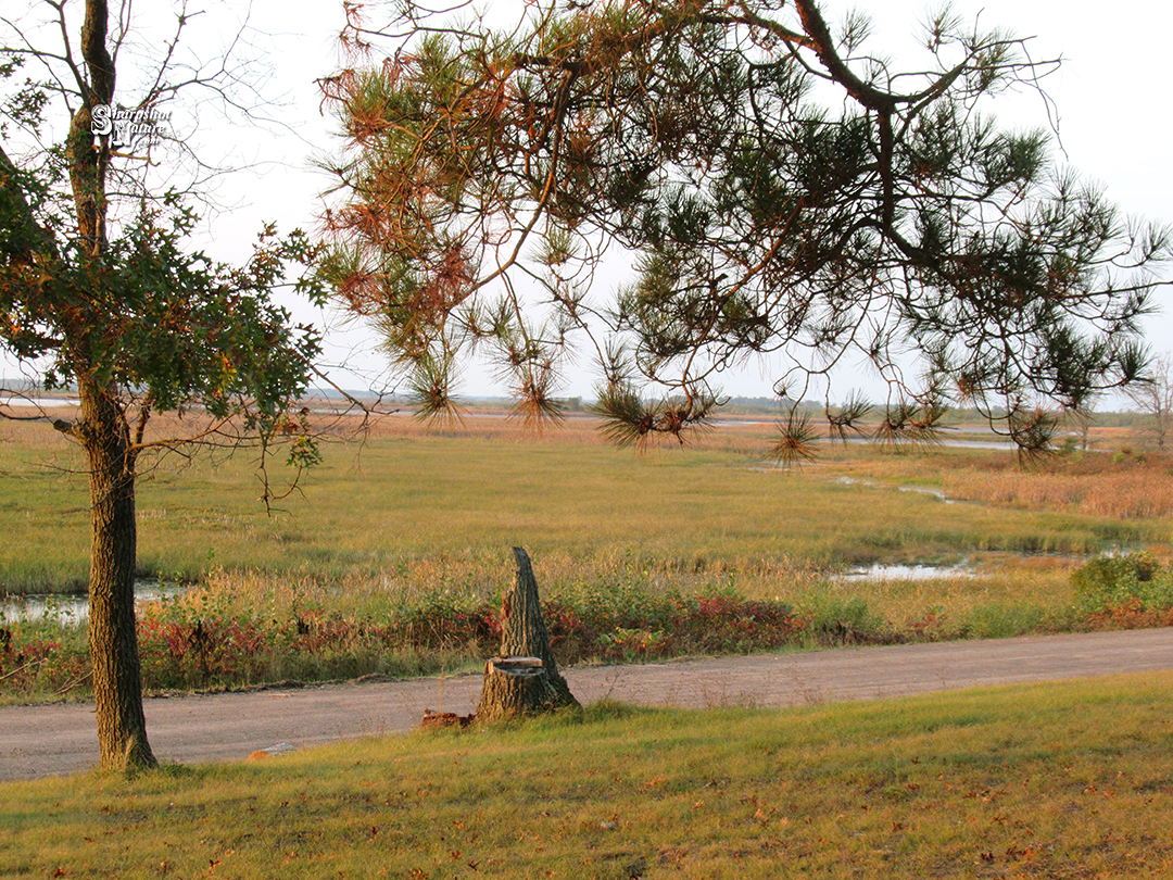
[[[87,577],[83,479],[70,451],[0,442],[0,588],[74,590]],[[748,440],[639,459],[584,442],[377,436],[332,446],[303,490],[266,516],[248,454],[171,456],[140,481],[138,567],[199,578],[217,567],[340,578],[416,560],[557,554],[588,567],[752,571],[875,560],[956,559],[979,551],[1085,554],[1164,541],[1162,520],[1121,522],[1004,505],[947,505],[891,485],[848,485],[840,451],[784,473],[758,467]],[[764,447],[764,444],[762,444]],[[867,460],[895,456],[853,448]],[[956,467],[957,456],[947,459]],[[928,455],[896,467],[940,475]],[[889,466],[890,469],[891,466]],[[940,479],[940,478],[938,478]]]

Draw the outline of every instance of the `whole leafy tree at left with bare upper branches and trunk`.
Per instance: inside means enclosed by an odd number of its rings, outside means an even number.
[[[147,184],[164,158],[151,120],[175,83],[232,86],[219,61],[208,76],[176,69],[188,21],[181,8],[172,33],[141,34],[129,1],[111,12],[106,0],[76,13],[45,2],[23,20],[0,19],[0,345],[81,401],[74,421],[53,427],[81,449],[89,476],[89,643],[108,769],[155,763],[134,607],[141,458],[249,438],[263,456],[285,445],[294,465],[317,455],[289,407],[318,340],[270,296],[287,266],[312,263],[313,248],[265,230],[246,264],[215,264],[183,249],[195,222],[184,194]],[[140,77],[141,93],[124,95],[116,74],[130,55],[155,67]],[[127,124],[143,128],[130,137]],[[161,433],[155,417],[167,412],[189,420]]]

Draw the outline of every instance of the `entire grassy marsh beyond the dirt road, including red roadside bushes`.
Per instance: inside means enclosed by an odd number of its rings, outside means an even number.
[[[77,589],[88,513],[74,451],[42,426],[0,431],[0,588]],[[500,417],[432,433],[392,417],[327,446],[271,515],[248,452],[144,462],[141,574],[195,584],[141,610],[147,686],[476,665],[513,546],[561,609],[567,662],[1103,625],[1076,608],[1073,567],[1121,547],[1168,556],[1167,459],[1074,453],[1024,472],[1008,451],[853,445],[784,471],[764,461],[771,432],[725,425],[640,458],[585,419],[533,438]],[[835,576],[874,562],[965,568]],[[0,702],[86,695],[83,632],[0,629]]]

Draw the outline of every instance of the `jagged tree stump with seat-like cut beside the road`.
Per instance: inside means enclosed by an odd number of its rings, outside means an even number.
[[[501,654],[484,664],[477,720],[578,705],[550,651],[529,555],[515,547],[514,559],[517,578],[501,600]]]

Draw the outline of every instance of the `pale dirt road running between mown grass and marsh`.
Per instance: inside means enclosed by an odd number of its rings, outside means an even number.
[[[791,706],[986,684],[1173,670],[1173,629],[856,648],[564,670],[584,703]],[[161,760],[245,758],[258,749],[398,733],[425,709],[467,713],[479,675],[147,700]],[[0,709],[0,780],[84,770],[97,760],[90,704]]]

